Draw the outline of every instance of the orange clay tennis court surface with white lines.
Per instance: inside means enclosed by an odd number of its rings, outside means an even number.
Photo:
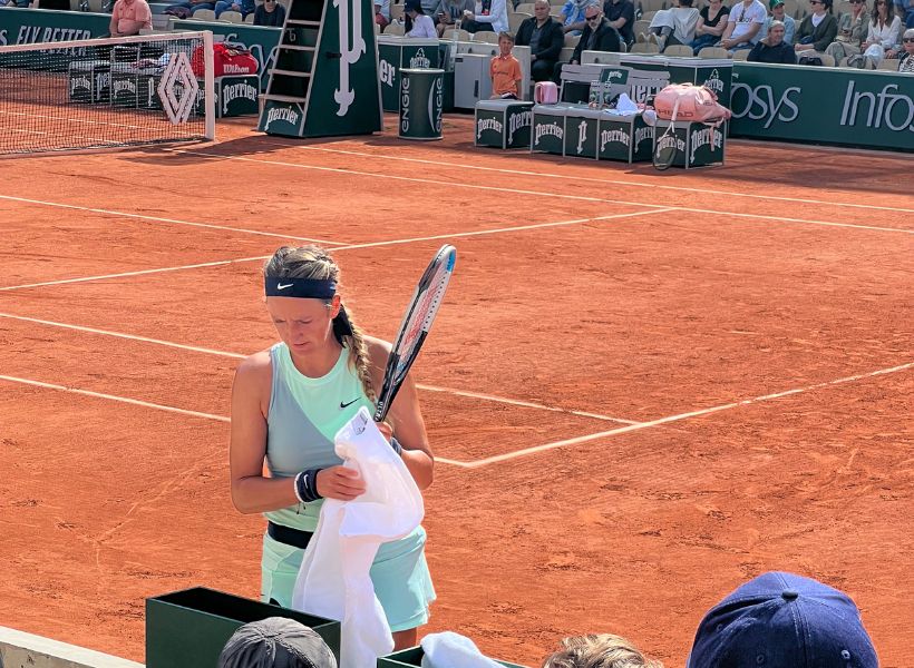
[[[911,666],[911,156],[732,141],[661,174],[475,149],[468,117],[431,144],[251,125],[2,163],[0,625],[143,661],[146,597],[256,598],[227,415],[274,341],[263,259],[336,248],[390,338],[451,243],[414,372],[425,631],[529,666],[612,631],[681,667],[703,612],[778,569],[847,591]]]

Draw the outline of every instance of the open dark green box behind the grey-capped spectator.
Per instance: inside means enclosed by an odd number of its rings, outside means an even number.
[[[146,668],[215,668],[240,626],[268,617],[311,627],[339,661],[340,622],[195,587],[146,599]]]

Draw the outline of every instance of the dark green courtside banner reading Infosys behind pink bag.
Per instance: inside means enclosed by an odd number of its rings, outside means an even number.
[[[914,150],[914,76],[735,62],[731,137]]]

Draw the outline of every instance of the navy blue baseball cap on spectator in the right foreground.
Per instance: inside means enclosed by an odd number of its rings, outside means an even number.
[[[708,611],[687,668],[878,668],[878,659],[846,595],[768,572]]]

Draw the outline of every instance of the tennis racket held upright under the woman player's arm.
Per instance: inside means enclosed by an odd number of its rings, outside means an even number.
[[[419,350],[422,347],[426,336],[428,336],[428,331],[431,328],[431,323],[435,321],[441,299],[444,299],[456,261],[457,249],[445,244],[435,254],[425,274],[419,278],[419,284],[416,286],[412,301],[409,303],[409,308],[406,311],[403,322],[400,324],[400,331],[397,333],[397,338],[390,351],[390,356],[387,358],[385,380],[375,409],[375,422],[385,421],[397,392],[400,391],[400,386],[406,380],[406,374],[409,373],[410,366],[419,356]]]

